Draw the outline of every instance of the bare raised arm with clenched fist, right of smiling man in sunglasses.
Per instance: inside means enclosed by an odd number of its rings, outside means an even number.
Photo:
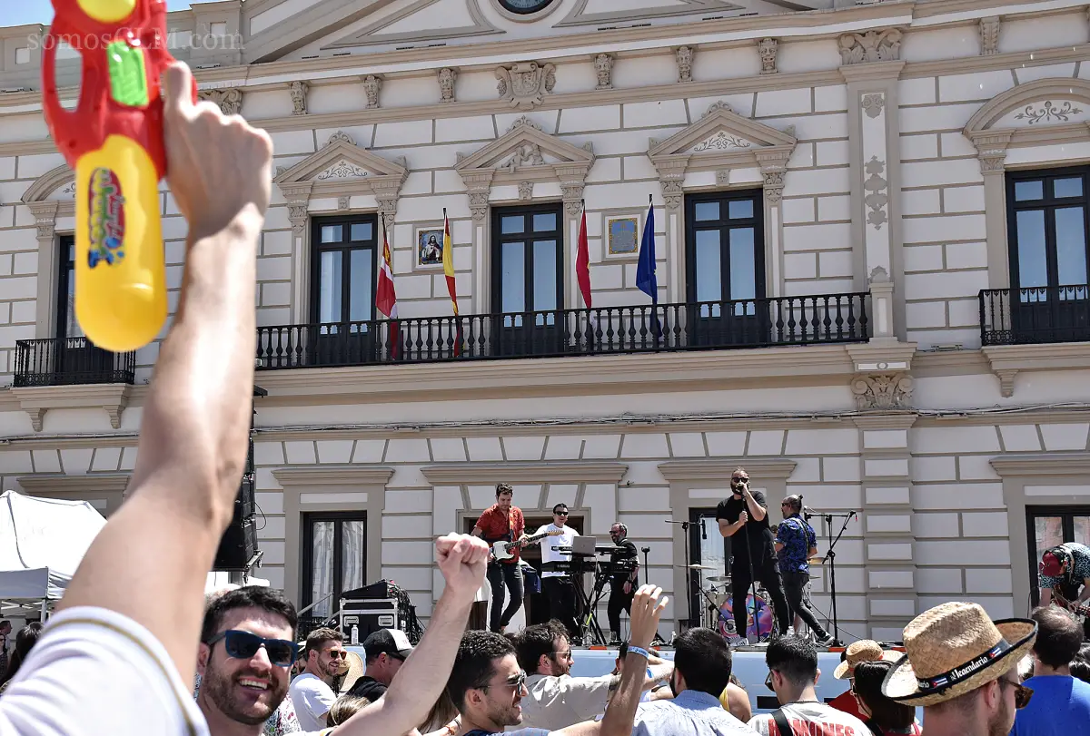
[[[427,717],[447,686],[473,597],[484,585],[489,550],[469,535],[440,537],[435,549],[447,585],[424,638],[398,670],[386,695],[339,726],[337,736],[404,734]]]

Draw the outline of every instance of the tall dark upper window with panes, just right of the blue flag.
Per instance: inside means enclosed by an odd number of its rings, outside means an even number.
[[[762,189],[686,197],[686,262],[690,302],[764,298]],[[752,315],[754,305],[737,305]],[[715,308],[701,309],[714,317]]]

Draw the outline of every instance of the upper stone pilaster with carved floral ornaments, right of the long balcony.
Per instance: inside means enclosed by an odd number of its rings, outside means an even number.
[[[894,284],[904,282],[897,78],[905,62],[896,60],[899,41],[891,40],[899,36],[888,33],[856,46],[863,51],[861,60],[859,54],[845,53],[845,65],[840,66],[848,85],[851,234],[859,291],[868,287],[870,274],[879,267]],[[841,49],[857,38],[855,34],[841,37]],[[903,289],[894,294],[892,318],[893,334],[904,340]]]

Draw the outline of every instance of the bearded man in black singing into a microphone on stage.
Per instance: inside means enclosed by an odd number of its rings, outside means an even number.
[[[744,468],[738,468],[731,474],[730,492],[730,498],[720,501],[716,507],[715,518],[719,523],[719,533],[731,538],[730,590],[736,630],[738,636],[746,636],[746,596],[755,578],[764,584],[772,597],[780,635],[787,634],[790,625],[787,598],[784,596],[772,528],[768,526],[768,502],[764,493],[749,489],[749,474]]]

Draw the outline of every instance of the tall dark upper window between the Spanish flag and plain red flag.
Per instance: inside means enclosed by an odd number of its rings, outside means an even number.
[[[564,218],[560,205],[493,210],[493,310],[564,308]],[[549,319],[555,319],[549,316]],[[546,320],[546,323],[552,323]],[[522,327],[521,318],[512,322]]]

